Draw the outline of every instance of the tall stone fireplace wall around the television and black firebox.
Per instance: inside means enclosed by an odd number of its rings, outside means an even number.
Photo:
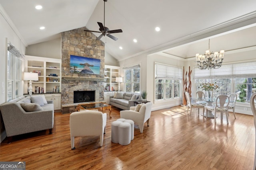
[[[62,106],[73,104],[74,90],[96,90],[95,100],[104,99],[104,57],[105,46],[96,36],[85,32],[86,27],[61,33],[62,68],[61,89]],[[70,55],[100,59],[100,75],[77,74],[70,72]]]

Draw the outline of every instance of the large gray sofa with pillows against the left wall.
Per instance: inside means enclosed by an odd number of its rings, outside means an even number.
[[[44,95],[21,96],[0,105],[1,114],[8,137],[49,129],[54,124],[54,104]]]

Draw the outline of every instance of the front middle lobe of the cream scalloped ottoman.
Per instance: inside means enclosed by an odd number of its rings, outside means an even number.
[[[128,145],[131,143],[131,124],[122,122],[118,126],[118,138],[120,145]]]

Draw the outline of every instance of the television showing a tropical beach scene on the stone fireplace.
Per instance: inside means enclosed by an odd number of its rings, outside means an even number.
[[[70,72],[100,75],[100,59],[70,55]]]

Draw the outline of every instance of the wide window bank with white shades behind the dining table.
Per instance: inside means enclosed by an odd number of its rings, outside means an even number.
[[[196,90],[201,83],[217,84],[220,89],[213,93],[213,97],[220,94],[236,93],[237,102],[250,102],[252,93],[256,92],[255,78],[256,62],[235,63],[222,65],[218,69],[199,70],[194,68]]]

